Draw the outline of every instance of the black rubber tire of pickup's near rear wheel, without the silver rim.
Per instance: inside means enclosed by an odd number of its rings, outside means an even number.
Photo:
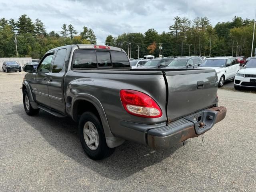
[[[96,128],[98,132],[98,147],[95,147],[96,149],[92,150],[89,148],[89,146],[86,144],[86,139],[84,136],[84,126],[86,126],[86,123],[91,122]],[[106,143],[106,138],[104,134],[104,130],[102,127],[102,124],[97,116],[95,116],[92,112],[84,112],[79,120],[78,124],[78,132],[80,141],[82,144],[82,147],[86,154],[93,160],[101,160],[108,156],[110,156],[115,148],[109,148]],[[88,137],[89,138],[89,137]],[[96,144],[95,144],[96,146]]]

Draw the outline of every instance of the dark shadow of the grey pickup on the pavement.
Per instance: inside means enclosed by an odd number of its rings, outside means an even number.
[[[42,110],[37,116],[28,116],[22,104],[13,106],[12,111],[32,128],[38,130],[44,139],[58,151],[113,180],[126,178],[148,166],[157,164],[182,146],[178,144],[166,150],[154,151],[148,146],[126,141],[116,148],[112,156],[94,161],[84,153],[78,137],[78,124],[71,118],[57,118]]]

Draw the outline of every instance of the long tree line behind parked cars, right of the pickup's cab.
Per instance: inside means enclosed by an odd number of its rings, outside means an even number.
[[[234,16],[232,21],[218,22],[214,27],[207,17],[174,17],[168,32],[159,34],[154,28],[142,33],[123,33],[117,37],[109,35],[105,44],[118,46],[131,56],[140,58],[152,54],[159,56],[160,45],[163,56],[250,56],[254,20]],[[254,42],[255,48],[255,42]]]

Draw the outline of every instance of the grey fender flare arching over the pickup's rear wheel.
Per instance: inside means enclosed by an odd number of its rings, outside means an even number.
[[[108,124],[107,116],[105,114],[105,111],[104,111],[104,108],[103,108],[102,104],[100,103],[100,101],[96,97],[94,97],[90,94],[78,93],[75,96],[73,96],[72,104],[71,104],[71,116],[72,116],[72,119],[74,121],[77,121],[77,118],[74,114],[74,104],[78,100],[88,101],[88,102],[92,103],[95,106],[95,108],[97,109],[97,111],[100,115],[100,120],[102,122],[104,134],[105,134],[105,137],[106,137],[106,143],[107,143],[109,148],[114,148],[116,146],[121,145],[124,142],[124,139],[115,137],[112,134],[112,132],[110,130],[110,127],[109,127],[109,124]]]

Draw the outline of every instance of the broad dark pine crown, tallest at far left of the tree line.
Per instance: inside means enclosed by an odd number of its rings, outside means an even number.
[[[25,33],[34,34],[35,26],[32,20],[26,14],[23,14],[22,16],[19,17],[16,25],[17,25],[18,34],[25,34]]]

